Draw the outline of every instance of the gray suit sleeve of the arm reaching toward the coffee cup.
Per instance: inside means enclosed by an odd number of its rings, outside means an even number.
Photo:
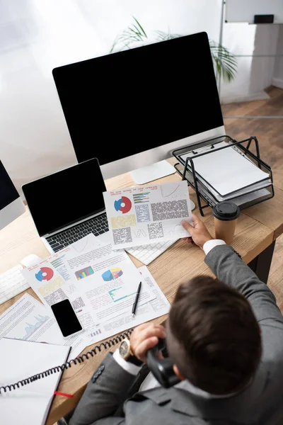
[[[218,245],[209,251],[204,262],[222,282],[243,294],[253,308],[258,322],[272,321],[283,329],[282,314],[275,295],[247,266],[230,245]]]

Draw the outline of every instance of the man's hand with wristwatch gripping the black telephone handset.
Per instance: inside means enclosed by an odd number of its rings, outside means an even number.
[[[156,346],[158,338],[165,338],[166,331],[161,324],[143,323],[134,328],[129,338],[132,352],[139,360],[146,363],[146,353],[149,348]]]

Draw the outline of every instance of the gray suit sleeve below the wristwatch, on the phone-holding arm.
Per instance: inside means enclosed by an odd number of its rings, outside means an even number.
[[[69,425],[122,425],[123,416],[115,416],[125,402],[135,376],[123,369],[108,353],[88,382]]]

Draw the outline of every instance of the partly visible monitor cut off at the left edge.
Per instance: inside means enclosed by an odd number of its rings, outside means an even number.
[[[0,161],[0,229],[25,212],[25,205]]]

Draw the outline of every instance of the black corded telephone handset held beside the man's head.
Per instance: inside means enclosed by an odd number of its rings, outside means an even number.
[[[165,388],[178,384],[180,379],[173,370],[173,362],[170,358],[158,358],[158,353],[166,352],[166,340],[159,339],[158,344],[150,348],[146,353],[146,362],[154,375],[154,378]]]

